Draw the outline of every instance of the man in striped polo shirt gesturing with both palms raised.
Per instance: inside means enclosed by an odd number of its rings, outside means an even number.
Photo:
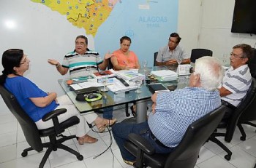
[[[57,60],[48,59],[48,63],[56,65],[57,71],[61,75],[65,75],[69,71],[71,78],[86,76],[86,69],[90,69],[91,73],[97,72],[98,68],[105,70],[108,66],[108,59],[112,54],[106,54],[102,60],[98,52],[91,51],[88,47],[88,39],[86,36],[80,35],[75,39],[75,50],[64,56],[62,65]],[[104,108],[104,119],[113,118],[113,108]]]

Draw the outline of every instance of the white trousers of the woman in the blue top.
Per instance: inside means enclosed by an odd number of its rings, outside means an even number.
[[[58,116],[59,122],[61,123],[69,119],[71,116],[78,116],[78,119],[80,119],[80,122],[76,125],[76,136],[83,137],[83,135],[86,135],[86,133],[89,132],[90,130],[86,121],[89,124],[91,124],[97,118],[97,114],[89,113],[89,114],[80,116],[80,113],[75,108],[71,100],[69,100],[69,97],[67,95],[57,97],[57,101],[59,103],[59,106],[56,109],[59,109],[59,108],[67,109],[66,113],[62,113],[61,115]],[[42,121],[42,119],[40,119],[39,121],[36,122],[36,125],[38,129],[47,129],[47,128],[53,127],[53,121],[52,120]]]

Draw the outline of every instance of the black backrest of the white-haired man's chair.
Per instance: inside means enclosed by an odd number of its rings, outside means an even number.
[[[222,105],[192,122],[187,128],[181,143],[168,156],[165,167],[195,167],[200,148],[214,132],[214,129],[217,128],[224,114],[225,107]]]

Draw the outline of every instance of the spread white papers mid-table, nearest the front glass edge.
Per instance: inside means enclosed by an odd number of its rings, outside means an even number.
[[[107,86],[111,92],[118,93],[118,92],[126,92],[132,89],[137,89],[137,86],[135,86],[134,82],[129,82],[128,80],[125,80],[127,84],[129,84],[129,87],[125,87],[124,84],[122,84],[121,81],[119,81],[118,79],[113,78],[113,80],[114,80],[113,84]]]

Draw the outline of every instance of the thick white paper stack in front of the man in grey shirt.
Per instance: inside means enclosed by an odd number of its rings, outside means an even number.
[[[170,70],[151,71],[151,74],[159,81],[174,81],[178,78],[178,73]]]

